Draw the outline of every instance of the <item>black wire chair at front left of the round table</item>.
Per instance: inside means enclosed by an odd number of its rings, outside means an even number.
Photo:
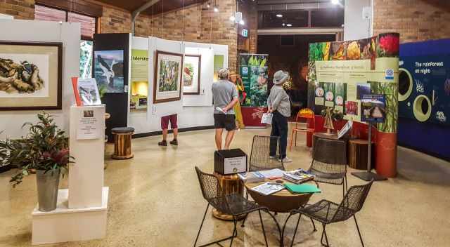
[[[200,231],[203,227],[203,222],[205,222],[206,213],[208,211],[208,208],[210,205],[213,208],[216,208],[217,211],[220,211],[221,213],[225,213],[227,215],[233,215],[233,234],[229,237],[226,237],[224,239],[219,239],[217,241],[212,241],[210,243],[203,244],[202,246],[210,246],[212,244],[218,244],[221,246],[220,242],[226,241],[231,239],[230,247],[233,244],[233,239],[238,236],[238,231],[236,229],[236,224],[238,222],[237,218],[240,215],[248,215],[248,213],[252,213],[255,211],[258,211],[259,213],[259,220],[261,221],[261,227],[262,227],[262,233],[264,234],[264,241],[266,242],[266,246],[269,246],[267,244],[267,238],[266,238],[266,231],[264,230],[264,224],[261,217],[261,211],[265,211],[271,217],[275,220],[274,215],[269,213],[269,209],[263,206],[259,206],[257,203],[248,201],[240,194],[226,194],[219,183],[219,180],[216,176],[209,174],[209,173],[203,173],[203,171],[200,171],[198,167],[195,166],[195,171],[197,172],[198,176],[198,182],[200,182],[200,189],[202,190],[203,198],[208,202],[208,205],[206,207],[205,215],[203,215],[202,224],[200,225],[200,229],[198,229],[197,237],[195,238],[194,247],[197,245],[198,237],[200,236]],[[278,227],[278,233],[280,234],[281,239],[281,229]]]

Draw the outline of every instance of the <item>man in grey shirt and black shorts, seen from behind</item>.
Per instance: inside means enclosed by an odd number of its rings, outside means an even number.
[[[219,70],[219,81],[212,84],[214,101],[214,128],[216,129],[216,147],[222,149],[222,133],[226,133],[225,147],[229,149],[236,130],[236,118],[233,107],[239,102],[238,89],[228,80],[228,69]]]

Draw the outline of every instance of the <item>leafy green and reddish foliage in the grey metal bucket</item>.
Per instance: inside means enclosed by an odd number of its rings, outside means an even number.
[[[29,129],[25,138],[0,141],[0,161],[17,165],[20,170],[10,180],[13,187],[22,182],[30,169],[53,172],[61,168],[67,170],[72,163],[64,131],[45,112],[37,114],[37,118],[39,121],[35,124],[23,124],[22,128]]]

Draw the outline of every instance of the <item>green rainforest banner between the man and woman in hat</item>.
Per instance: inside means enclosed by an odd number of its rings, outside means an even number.
[[[240,54],[239,60],[239,74],[244,84],[245,93],[247,93],[243,106],[266,107],[269,55]]]

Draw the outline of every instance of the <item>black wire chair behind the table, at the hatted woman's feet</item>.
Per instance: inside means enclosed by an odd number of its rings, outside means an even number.
[[[270,156],[270,144],[276,143],[276,155]],[[255,135],[250,152],[249,171],[264,171],[279,168],[285,171],[280,159],[280,138],[278,136]]]

